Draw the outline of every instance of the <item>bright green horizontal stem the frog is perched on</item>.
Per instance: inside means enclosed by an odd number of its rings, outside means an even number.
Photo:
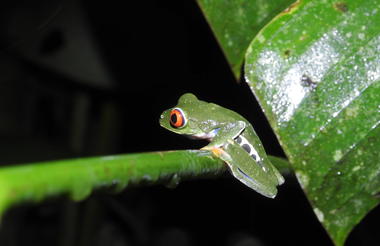
[[[288,162],[269,157],[282,170]],[[208,151],[181,150],[31,163],[0,169],[0,216],[25,202],[67,195],[83,200],[93,190],[121,191],[127,186],[165,184],[219,176],[223,161]]]

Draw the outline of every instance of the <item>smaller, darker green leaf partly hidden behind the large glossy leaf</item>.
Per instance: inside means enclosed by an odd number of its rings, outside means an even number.
[[[236,78],[258,31],[294,0],[198,0]]]

